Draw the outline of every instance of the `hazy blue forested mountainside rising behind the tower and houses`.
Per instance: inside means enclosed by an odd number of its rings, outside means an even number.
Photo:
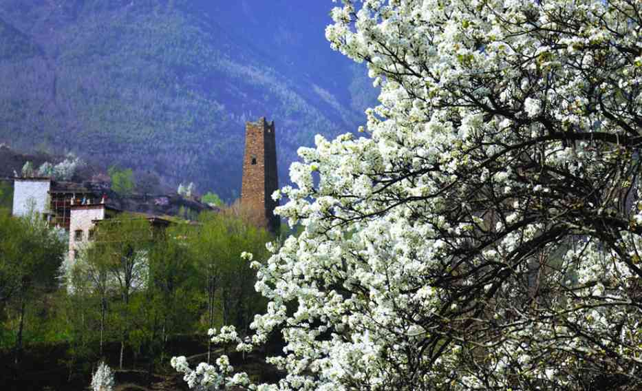
[[[3,0],[0,142],[239,193],[244,121],[297,147],[354,131],[374,91],[330,50],[332,2]]]

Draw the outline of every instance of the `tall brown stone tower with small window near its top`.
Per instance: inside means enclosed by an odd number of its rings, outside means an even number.
[[[258,122],[245,124],[241,204],[255,224],[272,233],[277,233],[280,226],[274,215],[279,202],[272,200],[272,193],[278,188],[274,121],[268,123],[261,117]]]

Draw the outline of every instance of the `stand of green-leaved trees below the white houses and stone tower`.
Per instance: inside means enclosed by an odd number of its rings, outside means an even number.
[[[44,230],[41,220],[0,213],[0,348],[17,343],[17,282],[25,273],[32,277],[24,295],[25,346],[65,341],[59,362],[70,377],[86,373],[89,363],[107,355],[100,346],[114,341],[122,341],[125,366],[131,366],[131,354],[167,365],[169,341],[180,335],[204,335],[224,324],[248,332],[265,302],[253,288],[255,271],[240,255],[251,251],[255,260],[266,260],[265,243],[272,237],[231,214],[205,213],[199,220],[166,229],[153,229],[138,215],[103,220],[94,242],[61,268],[64,286],[58,288],[54,275],[65,253],[60,236]],[[28,229],[30,224],[36,228]],[[55,257],[45,257],[45,248],[54,249]],[[25,264],[12,262],[17,257]],[[43,266],[45,258],[50,262]]]

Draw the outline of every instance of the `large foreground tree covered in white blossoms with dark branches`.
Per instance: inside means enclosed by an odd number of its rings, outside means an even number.
[[[305,230],[257,266],[267,313],[213,335],[280,332],[286,376],[175,367],[252,390],[640,389],[642,3],[343,0],[332,18],[381,104],[364,137],[299,150],[279,214]]]

